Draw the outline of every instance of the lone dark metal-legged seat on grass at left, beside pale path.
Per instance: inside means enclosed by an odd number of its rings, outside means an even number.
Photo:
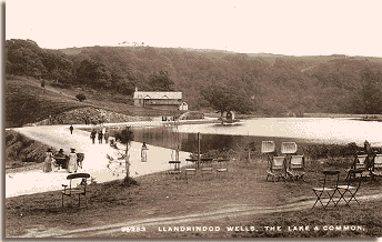
[[[62,191],[62,208],[63,208],[63,196],[68,195],[68,196],[72,196],[78,194],[78,205],[80,206],[80,202],[81,202],[81,195],[84,196],[84,201],[87,203],[87,184],[88,184],[88,178],[90,178],[90,174],[88,173],[74,173],[74,174],[70,174],[67,177],[67,180],[70,180],[69,182],[69,188],[67,184],[62,184],[63,186],[63,191]],[[72,181],[74,179],[81,179],[81,183],[77,186],[73,188],[72,186]]]

